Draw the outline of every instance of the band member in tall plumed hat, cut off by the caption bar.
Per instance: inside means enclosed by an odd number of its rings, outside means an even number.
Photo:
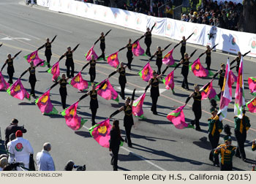
[[[224,137],[225,144],[219,145],[215,149],[214,156],[218,156],[220,153],[219,167],[221,171],[232,171],[233,169],[232,158],[235,155],[236,147],[231,145],[232,139],[231,139],[230,126],[225,125],[224,131],[227,134]]]

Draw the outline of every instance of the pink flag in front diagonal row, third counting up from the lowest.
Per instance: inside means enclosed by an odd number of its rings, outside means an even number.
[[[58,113],[56,108],[53,107],[53,104],[50,102],[50,90],[43,93],[35,102],[43,115],[54,115]]]

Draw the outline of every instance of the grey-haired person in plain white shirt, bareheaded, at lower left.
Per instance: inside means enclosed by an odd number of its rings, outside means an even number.
[[[43,150],[37,153],[37,166],[39,171],[55,171],[53,158],[50,156],[51,145],[46,142],[43,145]]]

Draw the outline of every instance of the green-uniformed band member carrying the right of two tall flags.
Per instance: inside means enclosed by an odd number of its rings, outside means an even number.
[[[238,142],[238,149],[236,149],[236,157],[242,158],[243,161],[246,161],[246,154],[244,151],[244,142],[246,141],[246,134],[251,124],[248,116],[245,115],[245,110],[243,110],[242,118],[238,116],[234,117],[235,120],[235,137]]]

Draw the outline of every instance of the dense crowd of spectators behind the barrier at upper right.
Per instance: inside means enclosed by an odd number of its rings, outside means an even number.
[[[238,31],[238,20],[242,10],[243,6],[240,3],[224,1],[218,4],[217,1],[204,0],[200,7],[183,14],[181,20]]]

